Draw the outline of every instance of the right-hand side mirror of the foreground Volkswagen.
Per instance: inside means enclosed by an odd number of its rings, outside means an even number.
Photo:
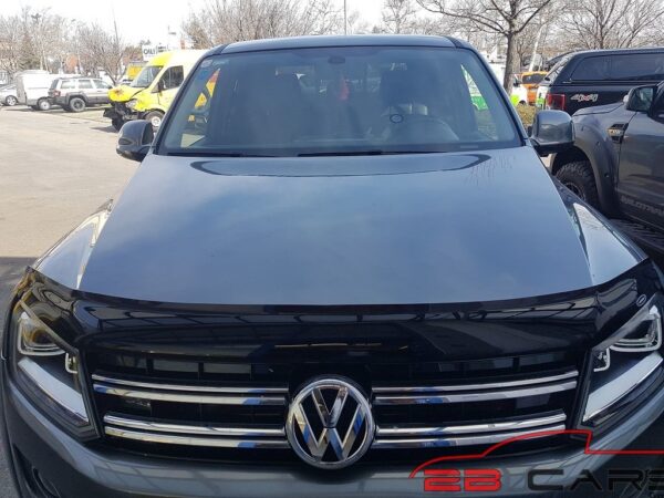
[[[530,143],[540,156],[567,151],[574,145],[574,124],[564,111],[540,111],[535,115]]]

